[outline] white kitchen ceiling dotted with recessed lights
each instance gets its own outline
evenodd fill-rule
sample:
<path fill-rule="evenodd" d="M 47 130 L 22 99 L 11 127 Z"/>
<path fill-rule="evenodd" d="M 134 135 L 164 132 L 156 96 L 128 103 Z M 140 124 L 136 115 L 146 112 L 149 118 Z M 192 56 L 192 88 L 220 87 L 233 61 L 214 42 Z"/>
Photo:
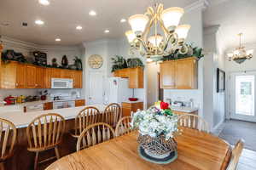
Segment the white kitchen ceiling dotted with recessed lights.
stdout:
<path fill-rule="evenodd" d="M 143 14 L 153 4 L 153 0 L 49 0 L 43 6 L 38 0 L 0 0 L 0 34 L 26 42 L 41 45 L 76 45 L 84 41 L 100 38 L 124 37 L 128 23 L 120 23 L 132 14 Z M 185 7 L 198 0 L 156 0 L 165 7 Z M 242 0 L 243 1 L 243 0 Z M 90 10 L 97 15 L 89 16 Z M 34 24 L 44 20 L 44 26 Z M 22 27 L 21 22 L 27 22 Z M 76 26 L 83 26 L 77 31 Z M 108 34 L 104 30 L 108 29 Z M 60 37 L 61 42 L 55 42 Z"/>

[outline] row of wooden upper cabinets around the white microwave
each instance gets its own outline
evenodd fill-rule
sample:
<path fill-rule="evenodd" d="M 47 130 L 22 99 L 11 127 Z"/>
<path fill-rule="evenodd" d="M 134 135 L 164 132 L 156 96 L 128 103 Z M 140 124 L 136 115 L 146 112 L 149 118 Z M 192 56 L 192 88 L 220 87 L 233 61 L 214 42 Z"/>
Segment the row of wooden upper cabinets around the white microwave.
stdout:
<path fill-rule="evenodd" d="M 0 88 L 51 88 L 51 78 L 72 78 L 73 88 L 83 88 L 83 72 L 44 68 L 9 61 L 1 65 Z"/>

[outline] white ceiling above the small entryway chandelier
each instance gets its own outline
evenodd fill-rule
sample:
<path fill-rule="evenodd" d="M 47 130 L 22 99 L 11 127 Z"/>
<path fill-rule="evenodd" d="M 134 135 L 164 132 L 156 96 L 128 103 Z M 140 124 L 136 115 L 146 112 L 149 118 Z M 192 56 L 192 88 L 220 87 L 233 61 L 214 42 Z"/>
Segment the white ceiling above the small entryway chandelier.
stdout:
<path fill-rule="evenodd" d="M 218 2 L 217 2 L 218 1 Z M 239 32 L 242 42 L 256 43 L 256 0 L 211 0 L 203 14 L 204 26 L 220 25 L 224 48 L 235 48 Z M 211 3 L 212 2 L 212 3 Z"/>

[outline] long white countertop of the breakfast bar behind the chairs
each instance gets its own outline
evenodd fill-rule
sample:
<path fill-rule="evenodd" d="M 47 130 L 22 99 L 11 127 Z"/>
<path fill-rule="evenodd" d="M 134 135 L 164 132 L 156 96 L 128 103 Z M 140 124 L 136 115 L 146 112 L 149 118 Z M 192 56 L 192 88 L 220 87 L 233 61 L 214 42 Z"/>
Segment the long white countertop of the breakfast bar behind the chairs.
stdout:
<path fill-rule="evenodd" d="M 90 105 L 86 105 L 90 106 Z M 105 107 L 107 105 L 93 105 L 95 106 L 99 111 L 104 111 Z M 40 116 L 42 114 L 46 113 L 57 113 L 63 116 L 66 120 L 75 118 L 79 111 L 84 109 L 84 106 L 79 107 L 71 107 L 71 108 L 64 108 L 64 109 L 55 109 L 50 111 L 28 111 L 24 113 L 23 111 L 1 111 L 0 112 L 0 118 L 7 119 L 10 122 L 13 122 L 15 124 L 15 127 L 22 128 L 27 127 L 30 122 L 37 116 Z"/>

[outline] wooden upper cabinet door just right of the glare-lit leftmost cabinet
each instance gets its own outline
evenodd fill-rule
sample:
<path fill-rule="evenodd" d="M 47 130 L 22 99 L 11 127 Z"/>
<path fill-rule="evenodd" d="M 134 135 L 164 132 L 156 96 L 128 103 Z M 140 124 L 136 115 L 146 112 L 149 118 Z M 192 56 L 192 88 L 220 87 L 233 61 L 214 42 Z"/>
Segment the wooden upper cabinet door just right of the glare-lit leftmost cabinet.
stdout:
<path fill-rule="evenodd" d="M 26 65 L 16 66 L 16 88 L 26 88 Z"/>

